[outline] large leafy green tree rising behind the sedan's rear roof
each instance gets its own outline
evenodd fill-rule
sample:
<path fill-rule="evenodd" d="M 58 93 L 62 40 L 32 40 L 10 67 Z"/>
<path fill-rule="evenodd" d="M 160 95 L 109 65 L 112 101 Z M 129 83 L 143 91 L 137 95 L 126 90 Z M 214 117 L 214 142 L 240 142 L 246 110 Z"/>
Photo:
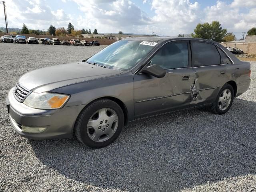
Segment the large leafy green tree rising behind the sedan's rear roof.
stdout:
<path fill-rule="evenodd" d="M 195 34 L 191 34 L 194 38 L 210 39 L 220 42 L 226 35 L 227 30 L 222 29 L 220 22 L 213 21 L 211 24 L 207 22 L 204 24 L 199 23 L 194 29 L 194 32 Z"/>

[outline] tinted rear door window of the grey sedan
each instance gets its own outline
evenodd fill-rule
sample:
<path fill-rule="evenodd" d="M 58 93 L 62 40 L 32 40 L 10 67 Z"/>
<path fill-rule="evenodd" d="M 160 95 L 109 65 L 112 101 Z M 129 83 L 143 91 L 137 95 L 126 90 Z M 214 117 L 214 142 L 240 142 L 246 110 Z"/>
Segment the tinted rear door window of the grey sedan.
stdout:
<path fill-rule="evenodd" d="M 221 64 L 220 54 L 213 44 L 192 42 L 192 65 L 194 67 Z"/>

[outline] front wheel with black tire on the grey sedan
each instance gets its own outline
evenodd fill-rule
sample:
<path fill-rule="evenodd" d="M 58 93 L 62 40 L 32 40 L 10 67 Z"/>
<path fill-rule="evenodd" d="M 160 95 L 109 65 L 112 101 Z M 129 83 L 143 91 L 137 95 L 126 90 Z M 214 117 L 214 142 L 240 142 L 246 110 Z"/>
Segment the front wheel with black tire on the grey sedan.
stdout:
<path fill-rule="evenodd" d="M 120 106 L 112 100 L 100 99 L 84 108 L 74 131 L 84 145 L 102 148 L 118 138 L 123 126 L 124 114 Z"/>

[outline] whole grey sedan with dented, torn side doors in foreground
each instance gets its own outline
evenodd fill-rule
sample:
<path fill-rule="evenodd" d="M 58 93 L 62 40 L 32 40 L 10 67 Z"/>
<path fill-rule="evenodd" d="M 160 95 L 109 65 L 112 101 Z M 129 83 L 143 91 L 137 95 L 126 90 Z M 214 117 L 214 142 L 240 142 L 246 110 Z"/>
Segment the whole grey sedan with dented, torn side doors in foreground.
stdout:
<path fill-rule="evenodd" d="M 228 112 L 248 90 L 250 73 L 250 63 L 211 40 L 130 38 L 81 62 L 22 75 L 6 104 L 24 137 L 75 134 L 83 144 L 101 148 L 124 125 L 145 118 L 204 106 L 214 114 Z"/>

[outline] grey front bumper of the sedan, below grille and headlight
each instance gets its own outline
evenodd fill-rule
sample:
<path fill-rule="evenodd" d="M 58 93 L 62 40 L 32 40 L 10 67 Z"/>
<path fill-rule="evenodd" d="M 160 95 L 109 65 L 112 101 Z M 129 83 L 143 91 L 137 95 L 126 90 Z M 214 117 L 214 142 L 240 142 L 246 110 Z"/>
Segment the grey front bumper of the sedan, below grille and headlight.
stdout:
<path fill-rule="evenodd" d="M 56 110 L 34 109 L 18 102 L 14 98 L 13 91 L 14 88 L 9 91 L 6 102 L 9 103 L 10 121 L 18 134 L 36 140 L 73 136 L 76 118 L 85 105 L 63 107 Z M 40 133 L 28 133 L 22 130 L 22 126 L 46 127 L 46 130 Z"/>

